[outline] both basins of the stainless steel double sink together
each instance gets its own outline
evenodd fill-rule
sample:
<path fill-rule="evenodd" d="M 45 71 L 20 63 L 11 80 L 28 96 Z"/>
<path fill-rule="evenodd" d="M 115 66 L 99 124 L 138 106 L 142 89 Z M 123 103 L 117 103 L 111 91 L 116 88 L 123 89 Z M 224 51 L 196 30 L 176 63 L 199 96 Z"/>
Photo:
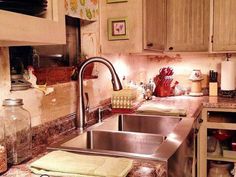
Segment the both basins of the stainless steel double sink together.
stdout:
<path fill-rule="evenodd" d="M 57 147 L 86 154 L 151 157 L 179 122 L 179 117 L 116 115 Z"/>

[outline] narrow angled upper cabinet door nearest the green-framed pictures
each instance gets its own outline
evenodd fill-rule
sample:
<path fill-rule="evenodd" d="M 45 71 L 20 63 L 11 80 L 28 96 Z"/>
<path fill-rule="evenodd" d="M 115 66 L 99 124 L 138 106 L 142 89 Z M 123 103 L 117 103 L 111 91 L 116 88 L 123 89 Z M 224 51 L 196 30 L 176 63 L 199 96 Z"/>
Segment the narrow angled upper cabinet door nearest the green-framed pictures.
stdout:
<path fill-rule="evenodd" d="M 144 0 L 144 49 L 164 50 L 166 0 Z"/>

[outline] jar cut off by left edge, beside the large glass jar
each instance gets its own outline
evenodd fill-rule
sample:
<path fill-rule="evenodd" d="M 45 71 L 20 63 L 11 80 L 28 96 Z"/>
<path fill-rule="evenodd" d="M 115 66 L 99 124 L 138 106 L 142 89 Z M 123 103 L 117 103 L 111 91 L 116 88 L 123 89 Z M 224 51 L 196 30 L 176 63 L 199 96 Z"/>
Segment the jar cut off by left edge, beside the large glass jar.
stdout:
<path fill-rule="evenodd" d="M 4 122 L 0 117 L 0 175 L 7 171 L 7 151 L 5 144 Z"/>

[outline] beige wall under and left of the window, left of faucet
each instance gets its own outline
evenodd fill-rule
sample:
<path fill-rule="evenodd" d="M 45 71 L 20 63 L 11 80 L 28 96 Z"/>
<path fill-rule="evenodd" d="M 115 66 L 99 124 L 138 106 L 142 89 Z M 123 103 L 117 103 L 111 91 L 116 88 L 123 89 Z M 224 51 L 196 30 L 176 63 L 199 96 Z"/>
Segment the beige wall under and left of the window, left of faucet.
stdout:
<path fill-rule="evenodd" d="M 0 105 L 6 98 L 22 98 L 32 117 L 32 126 L 67 116 L 76 111 L 76 82 L 52 85 L 54 92 L 44 95 L 37 89 L 10 92 L 10 63 L 7 48 L 0 48 Z M 1 106 L 0 106 L 1 110 Z"/>

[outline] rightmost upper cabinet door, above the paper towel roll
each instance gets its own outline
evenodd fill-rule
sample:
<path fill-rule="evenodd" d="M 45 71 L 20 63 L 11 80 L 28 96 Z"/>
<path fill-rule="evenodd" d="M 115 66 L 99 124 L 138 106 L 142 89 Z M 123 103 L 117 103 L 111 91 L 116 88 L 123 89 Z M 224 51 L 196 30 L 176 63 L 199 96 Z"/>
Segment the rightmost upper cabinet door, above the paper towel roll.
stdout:
<path fill-rule="evenodd" d="M 236 1 L 213 1 L 213 51 L 236 51 Z"/>

